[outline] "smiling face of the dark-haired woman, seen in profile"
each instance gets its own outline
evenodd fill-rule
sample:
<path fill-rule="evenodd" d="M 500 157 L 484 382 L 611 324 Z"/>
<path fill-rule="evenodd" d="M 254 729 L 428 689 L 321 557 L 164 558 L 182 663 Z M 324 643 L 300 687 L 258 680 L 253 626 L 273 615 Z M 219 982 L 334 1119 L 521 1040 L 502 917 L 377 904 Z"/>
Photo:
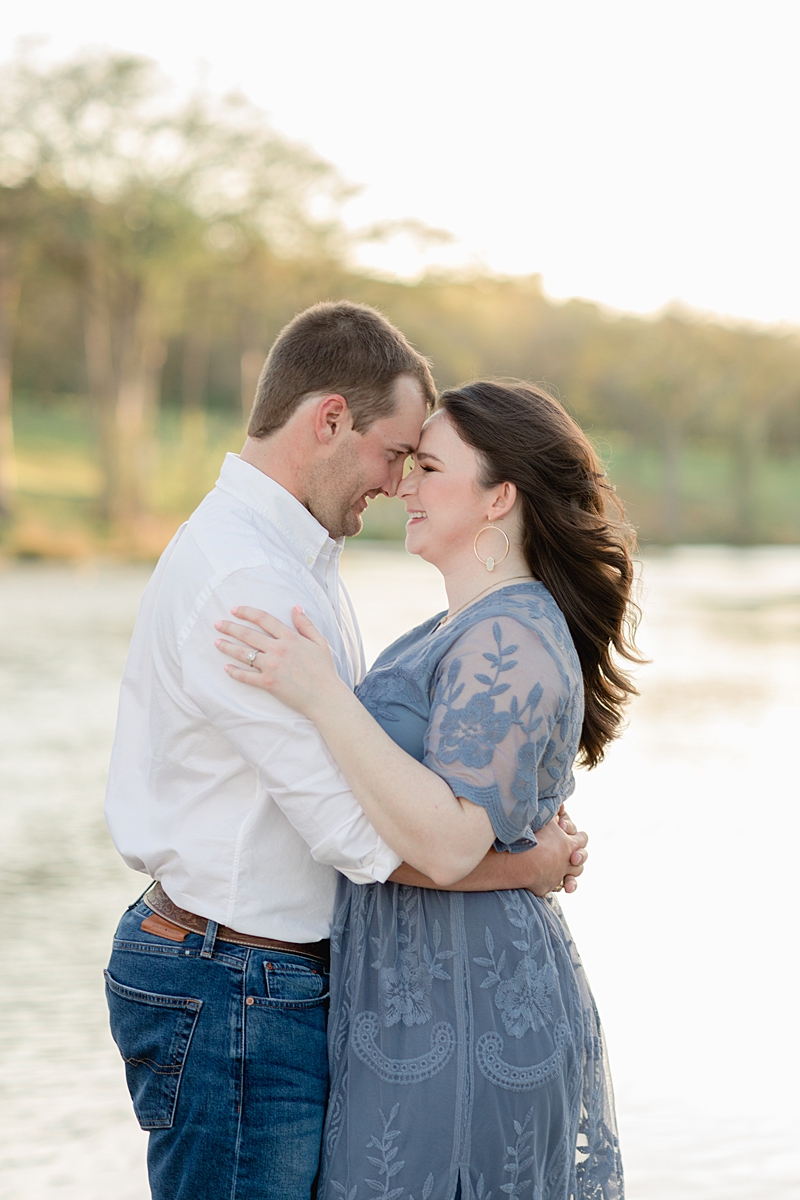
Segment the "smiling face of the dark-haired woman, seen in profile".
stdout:
<path fill-rule="evenodd" d="M 444 412 L 425 424 L 414 469 L 397 488 L 409 520 L 405 548 L 447 571 L 471 557 L 493 493 L 479 485 L 480 461 Z"/>

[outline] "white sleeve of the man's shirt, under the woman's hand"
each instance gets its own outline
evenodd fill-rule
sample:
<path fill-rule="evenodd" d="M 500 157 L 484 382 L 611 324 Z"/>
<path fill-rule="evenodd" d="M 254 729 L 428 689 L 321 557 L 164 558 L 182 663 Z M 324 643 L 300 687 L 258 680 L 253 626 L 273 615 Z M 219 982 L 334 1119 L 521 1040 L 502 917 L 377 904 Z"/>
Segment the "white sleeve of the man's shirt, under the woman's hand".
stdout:
<path fill-rule="evenodd" d="M 369 824 L 317 726 L 267 692 L 231 679 L 215 646 L 215 622 L 230 620 L 235 605 L 264 608 L 290 625 L 291 607 L 300 601 L 337 658 L 341 637 L 332 612 L 308 590 L 258 568 L 236 571 L 210 589 L 178 638 L 184 690 L 255 772 L 318 863 L 354 883 L 384 883 L 402 859 Z M 341 661 L 337 666 L 343 673 Z"/>

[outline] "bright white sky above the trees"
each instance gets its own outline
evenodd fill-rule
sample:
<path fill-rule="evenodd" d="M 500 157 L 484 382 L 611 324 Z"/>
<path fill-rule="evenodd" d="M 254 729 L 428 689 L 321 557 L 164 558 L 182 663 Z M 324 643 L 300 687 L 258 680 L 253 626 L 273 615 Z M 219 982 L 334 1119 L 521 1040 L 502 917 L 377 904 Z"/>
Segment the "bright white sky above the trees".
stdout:
<path fill-rule="evenodd" d="M 800 323 L 796 0 L 26 0 L 0 56 L 28 34 L 240 88 L 363 185 L 351 222 L 456 234 L 438 262 Z"/>

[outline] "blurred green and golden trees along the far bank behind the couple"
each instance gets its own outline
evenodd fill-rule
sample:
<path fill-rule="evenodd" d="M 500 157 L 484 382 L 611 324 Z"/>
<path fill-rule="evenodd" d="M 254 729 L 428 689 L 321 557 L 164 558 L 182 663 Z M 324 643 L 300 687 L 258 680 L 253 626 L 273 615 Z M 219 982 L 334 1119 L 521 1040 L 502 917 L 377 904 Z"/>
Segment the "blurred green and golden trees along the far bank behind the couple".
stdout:
<path fill-rule="evenodd" d="M 306 305 L 348 296 L 395 320 L 441 386 L 545 380 L 599 440 L 645 538 L 800 540 L 796 332 L 680 311 L 615 317 L 549 301 L 537 277 L 375 278 L 351 265 L 349 194 L 242 97 L 170 104 L 146 60 L 42 67 L 23 53 L 2 68 L 6 534 L 25 508 L 14 431 L 30 458 L 66 413 L 86 430 L 96 532 L 134 528 L 158 506 L 158 473 L 179 463 L 173 506 L 191 508 L 213 480 L 212 432 L 237 448 L 276 332 Z"/>

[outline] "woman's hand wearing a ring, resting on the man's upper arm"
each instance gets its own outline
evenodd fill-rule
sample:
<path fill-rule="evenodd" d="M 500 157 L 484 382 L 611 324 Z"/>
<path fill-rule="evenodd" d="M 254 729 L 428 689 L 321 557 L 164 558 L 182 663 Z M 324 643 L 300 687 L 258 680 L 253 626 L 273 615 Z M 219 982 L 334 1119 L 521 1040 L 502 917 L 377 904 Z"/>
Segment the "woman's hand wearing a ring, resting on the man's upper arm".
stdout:
<path fill-rule="evenodd" d="M 347 688 L 337 674 L 330 646 L 300 605 L 291 610 L 295 629 L 260 608 L 243 606 L 231 612 L 234 617 L 251 622 L 249 625 L 237 625 L 233 620 L 216 623 L 219 632 L 235 638 L 218 638 L 215 643 L 217 649 L 242 664 L 225 662 L 225 671 L 231 678 L 269 691 L 289 708 L 312 719 L 315 704 Z"/>

